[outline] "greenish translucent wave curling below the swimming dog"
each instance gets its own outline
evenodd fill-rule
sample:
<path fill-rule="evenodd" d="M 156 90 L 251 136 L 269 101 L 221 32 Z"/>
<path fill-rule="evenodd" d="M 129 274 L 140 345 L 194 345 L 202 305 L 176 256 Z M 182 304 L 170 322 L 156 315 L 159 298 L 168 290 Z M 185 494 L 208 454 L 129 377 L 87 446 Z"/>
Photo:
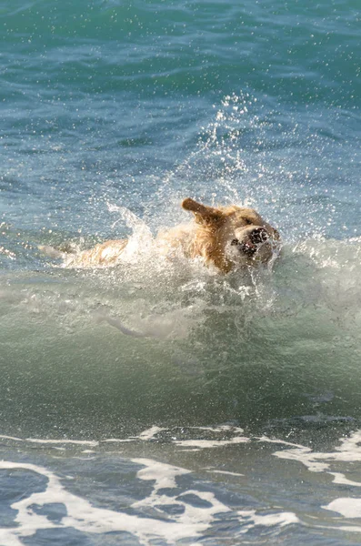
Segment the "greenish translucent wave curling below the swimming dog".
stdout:
<path fill-rule="evenodd" d="M 3 431 L 360 418 L 359 238 L 226 277 L 134 249 L 117 268 L 2 276 Z"/>

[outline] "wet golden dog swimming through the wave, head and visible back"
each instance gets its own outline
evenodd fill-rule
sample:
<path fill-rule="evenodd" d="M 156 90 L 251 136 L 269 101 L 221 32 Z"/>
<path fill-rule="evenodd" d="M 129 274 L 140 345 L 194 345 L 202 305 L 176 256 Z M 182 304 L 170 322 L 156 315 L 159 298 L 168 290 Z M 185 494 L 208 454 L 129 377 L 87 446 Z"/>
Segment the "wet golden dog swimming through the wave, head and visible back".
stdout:
<path fill-rule="evenodd" d="M 162 256 L 180 249 L 186 258 L 202 258 L 207 267 L 229 273 L 235 268 L 267 263 L 279 248 L 278 231 L 253 208 L 208 207 L 191 197 L 182 202 L 182 207 L 194 214 L 194 220 L 157 234 L 155 246 Z M 128 239 L 108 240 L 67 255 L 65 262 L 80 268 L 115 266 L 127 243 Z"/>

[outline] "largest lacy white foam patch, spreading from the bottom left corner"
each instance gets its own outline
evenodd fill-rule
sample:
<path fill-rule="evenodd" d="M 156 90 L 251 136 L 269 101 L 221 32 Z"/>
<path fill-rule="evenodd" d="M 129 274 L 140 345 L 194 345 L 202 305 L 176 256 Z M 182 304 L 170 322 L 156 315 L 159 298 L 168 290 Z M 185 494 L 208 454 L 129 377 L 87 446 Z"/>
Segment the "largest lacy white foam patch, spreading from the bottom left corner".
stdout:
<path fill-rule="evenodd" d="M 127 514 L 121 511 L 112 511 L 94 507 L 89 501 L 65 489 L 61 480 L 50 470 L 30 463 L 1 461 L 0 470 L 26 470 L 44 476 L 47 485 L 44 491 L 35 492 L 15 501 L 11 508 L 15 510 L 16 527 L 0 530 L 0 541 L 3 546 L 21 546 L 21 539 L 32 536 L 36 531 L 45 529 L 73 528 L 88 533 L 105 533 L 111 531 L 125 531 L 133 534 L 141 544 L 149 545 L 155 539 L 163 539 L 167 544 L 176 541 L 194 539 L 203 535 L 222 514 L 232 510 L 216 499 L 215 493 L 205 490 L 189 489 L 177 492 L 177 478 L 190 474 L 190 470 L 182 469 L 165 463 L 148 459 L 134 459 L 142 469 L 137 471 L 139 480 L 148 480 L 152 484 L 152 492 L 142 501 L 135 501 L 130 508 L 140 511 L 140 515 Z M 175 495 L 169 496 L 163 490 L 175 489 Z M 200 501 L 189 503 L 187 498 L 192 496 Z M 46 516 L 35 511 L 35 507 L 44 507 L 46 504 L 62 503 L 66 515 L 60 522 L 50 521 Z M 181 509 L 179 513 L 166 516 L 163 510 L 173 504 Z M 151 509 L 162 516 L 142 517 Z M 271 515 L 258 515 L 256 511 L 238 511 L 237 517 L 245 523 L 243 532 L 249 531 L 256 525 L 280 527 L 298 522 L 295 514 L 277 512 Z"/>

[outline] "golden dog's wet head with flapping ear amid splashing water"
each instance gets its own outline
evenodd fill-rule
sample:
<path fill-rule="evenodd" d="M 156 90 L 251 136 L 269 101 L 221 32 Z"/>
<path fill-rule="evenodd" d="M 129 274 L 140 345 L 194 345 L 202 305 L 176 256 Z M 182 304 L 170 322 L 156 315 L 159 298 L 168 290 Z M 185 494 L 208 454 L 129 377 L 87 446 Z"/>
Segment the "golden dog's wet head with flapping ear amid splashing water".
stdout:
<path fill-rule="evenodd" d="M 235 267 L 266 263 L 274 255 L 279 234 L 253 208 L 207 207 L 186 198 L 182 207 L 194 213 L 198 229 L 194 256 L 202 256 L 227 273 Z"/>

